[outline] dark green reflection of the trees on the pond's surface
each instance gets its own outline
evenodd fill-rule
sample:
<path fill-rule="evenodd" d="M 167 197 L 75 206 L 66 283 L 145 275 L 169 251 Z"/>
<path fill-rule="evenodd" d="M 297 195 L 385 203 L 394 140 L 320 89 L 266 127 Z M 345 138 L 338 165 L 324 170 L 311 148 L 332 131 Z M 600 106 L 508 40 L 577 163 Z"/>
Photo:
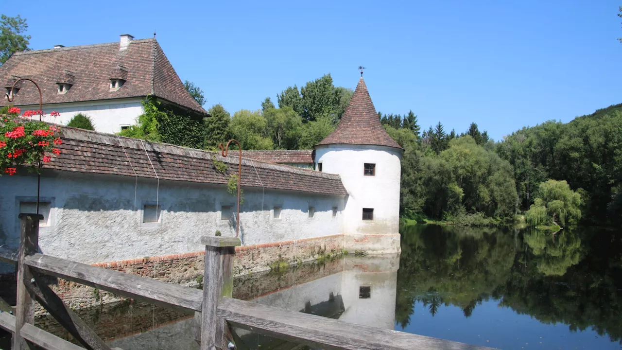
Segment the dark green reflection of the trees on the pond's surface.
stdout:
<path fill-rule="evenodd" d="M 471 316 L 482 301 L 542 323 L 593 327 L 622 339 L 622 235 L 603 230 L 503 232 L 415 225 L 402 230 L 396 320 L 414 304 L 432 315 L 453 305 Z"/>

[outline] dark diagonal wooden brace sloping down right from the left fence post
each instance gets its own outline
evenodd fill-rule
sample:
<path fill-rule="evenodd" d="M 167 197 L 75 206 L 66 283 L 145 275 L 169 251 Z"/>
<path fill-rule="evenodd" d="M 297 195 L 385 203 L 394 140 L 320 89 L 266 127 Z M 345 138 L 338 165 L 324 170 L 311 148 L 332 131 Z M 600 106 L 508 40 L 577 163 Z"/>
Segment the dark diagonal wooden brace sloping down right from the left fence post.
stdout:
<path fill-rule="evenodd" d="M 72 334 L 78 343 L 88 350 L 110 350 L 97 334 L 76 315 L 62 300 L 45 284 L 39 273 L 32 272 L 35 283 L 24 281 L 26 289 L 35 300 L 47 310 L 63 328 Z"/>

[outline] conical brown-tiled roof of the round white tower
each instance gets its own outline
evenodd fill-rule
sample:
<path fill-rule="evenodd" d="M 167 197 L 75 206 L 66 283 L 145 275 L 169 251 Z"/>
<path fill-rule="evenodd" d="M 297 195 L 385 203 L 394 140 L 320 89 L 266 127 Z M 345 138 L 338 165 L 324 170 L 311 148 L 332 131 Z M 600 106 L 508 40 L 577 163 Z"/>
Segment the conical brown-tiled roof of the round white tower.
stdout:
<path fill-rule="evenodd" d="M 363 77 L 337 128 L 316 146 L 320 144 L 370 144 L 404 149 L 384 131 Z"/>

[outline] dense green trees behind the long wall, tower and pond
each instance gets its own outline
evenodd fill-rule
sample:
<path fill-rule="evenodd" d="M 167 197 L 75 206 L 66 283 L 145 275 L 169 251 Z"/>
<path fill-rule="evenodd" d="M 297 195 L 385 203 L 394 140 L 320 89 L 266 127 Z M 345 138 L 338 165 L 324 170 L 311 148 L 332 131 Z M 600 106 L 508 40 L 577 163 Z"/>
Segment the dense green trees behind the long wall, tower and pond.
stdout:
<path fill-rule="evenodd" d="M 285 88 L 277 105 L 267 97 L 261 109 L 233 115 L 213 105 L 203 120 L 181 118 L 151 100 L 121 135 L 211 150 L 230 138 L 244 149 L 310 149 L 335 129 L 352 94 L 328 74 Z M 422 130 L 412 110 L 378 118 L 406 149 L 404 217 L 492 225 L 526 214 L 530 225 L 622 225 L 622 105 L 570 123 L 545 121 L 498 142 L 476 123 L 461 133 L 440 122 Z"/>

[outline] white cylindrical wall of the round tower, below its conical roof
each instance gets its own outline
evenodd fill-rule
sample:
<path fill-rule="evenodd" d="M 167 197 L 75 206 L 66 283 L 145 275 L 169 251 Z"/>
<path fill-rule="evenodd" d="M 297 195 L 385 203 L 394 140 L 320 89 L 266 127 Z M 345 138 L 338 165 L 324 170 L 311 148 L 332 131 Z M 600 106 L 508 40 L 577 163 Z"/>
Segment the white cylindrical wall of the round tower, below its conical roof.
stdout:
<path fill-rule="evenodd" d="M 399 149 L 367 145 L 323 145 L 315 148 L 316 162 L 324 173 L 339 174 L 348 197 L 345 234 L 399 233 Z M 363 164 L 376 164 L 375 176 L 363 175 Z M 363 220 L 363 208 L 374 209 L 373 220 Z"/>

